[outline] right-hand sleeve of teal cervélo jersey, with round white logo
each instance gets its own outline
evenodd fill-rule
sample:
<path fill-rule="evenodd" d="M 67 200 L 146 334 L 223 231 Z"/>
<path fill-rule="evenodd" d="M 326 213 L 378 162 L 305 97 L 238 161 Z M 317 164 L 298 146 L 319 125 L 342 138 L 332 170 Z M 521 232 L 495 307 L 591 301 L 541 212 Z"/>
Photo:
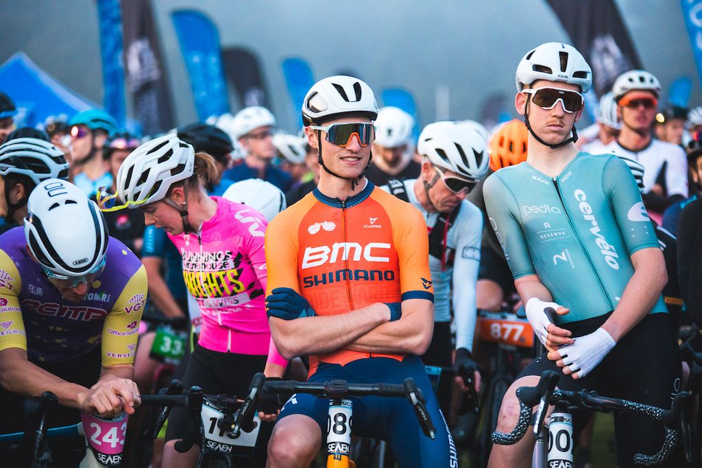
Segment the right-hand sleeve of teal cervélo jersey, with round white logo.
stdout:
<path fill-rule="evenodd" d="M 642 248 L 660 248 L 639 187 L 626 163 L 616 157 L 609 158 L 602 178 L 629 255 Z"/>

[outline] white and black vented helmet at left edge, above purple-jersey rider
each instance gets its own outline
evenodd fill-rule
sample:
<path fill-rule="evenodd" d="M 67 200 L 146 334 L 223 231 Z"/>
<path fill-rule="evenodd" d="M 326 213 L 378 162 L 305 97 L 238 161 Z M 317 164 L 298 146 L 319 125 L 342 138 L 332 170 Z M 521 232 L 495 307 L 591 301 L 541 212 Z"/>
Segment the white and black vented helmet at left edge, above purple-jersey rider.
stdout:
<path fill-rule="evenodd" d="M 39 185 L 46 179 L 67 179 L 63 152 L 46 140 L 15 138 L 0 146 L 0 175 L 26 175 Z"/>

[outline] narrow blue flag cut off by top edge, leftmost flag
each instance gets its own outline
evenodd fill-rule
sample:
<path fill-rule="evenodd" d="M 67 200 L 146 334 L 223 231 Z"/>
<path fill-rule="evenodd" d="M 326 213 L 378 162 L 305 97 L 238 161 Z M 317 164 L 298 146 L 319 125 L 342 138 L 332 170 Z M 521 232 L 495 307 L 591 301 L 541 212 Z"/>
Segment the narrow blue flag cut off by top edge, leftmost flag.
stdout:
<path fill-rule="evenodd" d="M 124 127 L 124 64 L 122 62 L 122 20 L 119 0 L 98 0 L 100 54 L 102 55 L 102 105 Z"/>

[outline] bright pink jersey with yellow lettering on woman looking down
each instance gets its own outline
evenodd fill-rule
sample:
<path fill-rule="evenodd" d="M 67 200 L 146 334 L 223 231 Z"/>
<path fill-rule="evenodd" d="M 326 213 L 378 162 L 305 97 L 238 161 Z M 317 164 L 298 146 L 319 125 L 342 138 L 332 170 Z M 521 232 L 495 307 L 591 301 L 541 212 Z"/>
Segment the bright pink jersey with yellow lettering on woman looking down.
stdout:
<path fill-rule="evenodd" d="M 202 312 L 199 345 L 216 352 L 269 354 L 278 361 L 263 302 L 267 222 L 249 206 L 211 198 L 217 211 L 199 234 L 168 234 L 183 258 L 185 286 Z"/>

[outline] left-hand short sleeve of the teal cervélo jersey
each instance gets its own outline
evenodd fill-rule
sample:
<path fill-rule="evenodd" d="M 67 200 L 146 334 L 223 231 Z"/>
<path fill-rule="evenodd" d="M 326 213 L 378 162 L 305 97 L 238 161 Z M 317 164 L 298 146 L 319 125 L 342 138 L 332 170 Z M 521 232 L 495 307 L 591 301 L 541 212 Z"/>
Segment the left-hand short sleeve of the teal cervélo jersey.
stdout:
<path fill-rule="evenodd" d="M 483 185 L 488 222 L 495 230 L 505 259 L 515 279 L 536 274 L 529 255 L 529 244 L 519 219 L 517 199 L 498 173 L 491 175 Z"/>

